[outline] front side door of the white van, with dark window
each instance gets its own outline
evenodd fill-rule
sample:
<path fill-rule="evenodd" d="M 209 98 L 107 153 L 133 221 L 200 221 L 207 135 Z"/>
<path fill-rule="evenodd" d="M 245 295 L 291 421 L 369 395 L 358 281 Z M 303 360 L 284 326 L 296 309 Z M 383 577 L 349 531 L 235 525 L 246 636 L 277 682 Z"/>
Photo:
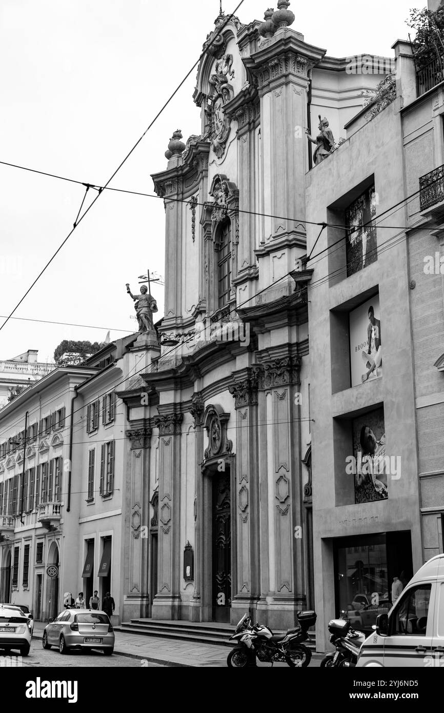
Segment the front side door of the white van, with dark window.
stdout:
<path fill-rule="evenodd" d="M 435 583 L 423 583 L 401 594 L 384 637 L 384 666 L 430 665 L 435 591 Z"/>

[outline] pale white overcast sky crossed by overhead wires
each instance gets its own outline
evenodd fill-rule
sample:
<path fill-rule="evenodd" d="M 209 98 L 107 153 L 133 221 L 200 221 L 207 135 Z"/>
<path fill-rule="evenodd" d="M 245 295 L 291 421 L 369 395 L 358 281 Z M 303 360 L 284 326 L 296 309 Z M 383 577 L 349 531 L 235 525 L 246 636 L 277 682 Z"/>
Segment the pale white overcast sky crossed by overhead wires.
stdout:
<path fill-rule="evenodd" d="M 239 0 L 223 0 L 229 14 Z M 262 19 L 269 0 L 244 0 L 237 15 Z M 424 0 L 293 1 L 293 29 L 331 56 L 393 56 L 411 7 Z M 274 6 L 277 6 L 275 0 Z M 1 0 L 0 160 L 104 185 L 214 28 L 219 0 Z M 192 101 L 196 71 L 111 185 L 154 193 L 172 132 L 200 133 Z M 0 314 L 7 315 L 68 234 L 82 186 L 0 165 Z M 89 196 L 85 207 L 89 205 Z M 14 317 L 93 325 L 62 327 L 11 319 L 0 360 L 27 349 L 52 359 L 62 339 L 102 341 L 135 330 L 125 282 L 165 274 L 162 201 L 103 192 Z M 153 287 L 161 317 L 163 288 Z M 4 319 L 0 319 L 0 324 Z"/>

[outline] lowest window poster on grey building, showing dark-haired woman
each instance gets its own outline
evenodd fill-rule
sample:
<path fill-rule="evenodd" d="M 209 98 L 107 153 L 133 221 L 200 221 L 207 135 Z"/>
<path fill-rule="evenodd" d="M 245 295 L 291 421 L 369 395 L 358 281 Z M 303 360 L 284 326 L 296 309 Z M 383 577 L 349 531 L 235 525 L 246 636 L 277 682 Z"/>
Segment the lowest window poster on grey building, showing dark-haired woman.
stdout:
<path fill-rule="evenodd" d="M 353 419 L 353 457 L 348 459 L 346 472 L 354 476 L 355 503 L 388 498 L 390 463 L 386 457 L 384 409 Z"/>

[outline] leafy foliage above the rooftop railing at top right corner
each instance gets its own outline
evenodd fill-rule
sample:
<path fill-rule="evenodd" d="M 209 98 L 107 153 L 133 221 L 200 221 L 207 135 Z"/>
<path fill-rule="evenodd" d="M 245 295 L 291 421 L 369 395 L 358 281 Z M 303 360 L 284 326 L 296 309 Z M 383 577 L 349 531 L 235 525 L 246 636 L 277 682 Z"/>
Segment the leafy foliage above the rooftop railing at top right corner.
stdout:
<path fill-rule="evenodd" d="M 415 30 L 413 53 L 417 69 L 422 69 L 433 60 L 438 60 L 441 68 L 444 64 L 444 8 L 435 12 L 423 8 L 410 11 L 406 20 Z"/>

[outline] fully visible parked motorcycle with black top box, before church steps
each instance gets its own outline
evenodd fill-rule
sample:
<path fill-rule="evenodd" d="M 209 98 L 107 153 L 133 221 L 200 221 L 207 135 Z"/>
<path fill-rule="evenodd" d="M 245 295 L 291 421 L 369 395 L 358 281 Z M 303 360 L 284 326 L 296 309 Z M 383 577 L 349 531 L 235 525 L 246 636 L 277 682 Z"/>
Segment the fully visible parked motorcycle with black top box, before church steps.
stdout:
<path fill-rule="evenodd" d="M 230 668 L 256 666 L 256 659 L 271 663 L 286 663 L 291 668 L 309 665 L 311 651 L 301 642 L 310 640 L 308 629 L 316 622 L 316 613 L 298 612 L 298 625 L 286 634 L 274 635 L 267 626 L 253 624 L 252 617 L 244 614 L 230 640 L 237 642 L 227 657 Z"/>

